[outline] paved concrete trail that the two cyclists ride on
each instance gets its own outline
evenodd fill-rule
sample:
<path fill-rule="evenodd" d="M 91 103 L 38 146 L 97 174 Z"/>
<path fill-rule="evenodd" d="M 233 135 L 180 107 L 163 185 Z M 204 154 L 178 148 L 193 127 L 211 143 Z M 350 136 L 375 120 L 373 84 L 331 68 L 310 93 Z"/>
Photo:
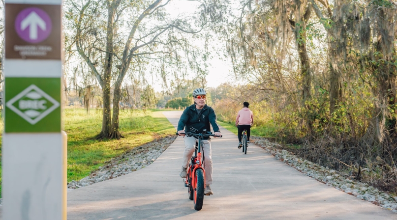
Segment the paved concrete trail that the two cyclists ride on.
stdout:
<path fill-rule="evenodd" d="M 164 114 L 176 126 L 182 111 Z M 144 169 L 67 193 L 68 220 L 287 219 L 392 220 L 397 214 L 340 192 L 221 129 L 212 139 L 214 195 L 195 211 L 179 177 L 183 138 Z"/>

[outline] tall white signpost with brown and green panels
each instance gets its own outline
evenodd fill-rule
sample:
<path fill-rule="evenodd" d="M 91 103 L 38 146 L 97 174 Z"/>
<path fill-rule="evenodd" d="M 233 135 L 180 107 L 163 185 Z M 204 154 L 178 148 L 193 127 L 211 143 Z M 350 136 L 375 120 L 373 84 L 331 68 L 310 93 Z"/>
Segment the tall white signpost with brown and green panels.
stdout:
<path fill-rule="evenodd" d="M 66 219 L 61 0 L 5 0 L 4 220 Z"/>

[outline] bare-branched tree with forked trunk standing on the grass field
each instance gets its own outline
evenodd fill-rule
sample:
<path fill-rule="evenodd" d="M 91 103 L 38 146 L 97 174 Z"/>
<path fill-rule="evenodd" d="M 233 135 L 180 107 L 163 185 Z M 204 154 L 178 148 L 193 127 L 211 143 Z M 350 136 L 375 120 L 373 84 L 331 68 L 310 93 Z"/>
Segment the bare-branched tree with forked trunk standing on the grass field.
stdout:
<path fill-rule="evenodd" d="M 97 138 L 122 138 L 119 132 L 120 102 L 129 102 L 128 88 L 122 84 L 143 82 L 144 108 L 156 104 L 154 92 L 147 87 L 146 74 L 158 74 L 165 91 L 167 77 L 193 73 L 201 79 L 207 74 L 208 48 L 190 43 L 208 41 L 201 31 L 208 23 L 222 20 L 224 8 L 217 1 L 190 2 L 196 13 L 171 16 L 165 6 L 170 0 L 67 0 L 65 15 L 65 60 L 78 59 L 85 78 L 95 79 L 102 89 L 102 128 Z M 76 53 L 77 52 L 77 53 Z M 76 55 L 74 55 L 76 54 Z M 73 65 L 72 62 L 69 63 Z M 88 70 L 88 71 L 87 71 Z M 177 80 L 178 81 L 178 80 Z M 202 83 L 204 84 L 204 83 Z M 136 87 L 133 89 L 136 98 Z M 113 93 L 113 98 L 111 94 Z M 125 95 L 126 94 L 126 95 Z M 138 96 L 139 97 L 139 96 Z M 134 105 L 136 99 L 133 100 Z M 113 115 L 111 105 L 113 103 Z"/>

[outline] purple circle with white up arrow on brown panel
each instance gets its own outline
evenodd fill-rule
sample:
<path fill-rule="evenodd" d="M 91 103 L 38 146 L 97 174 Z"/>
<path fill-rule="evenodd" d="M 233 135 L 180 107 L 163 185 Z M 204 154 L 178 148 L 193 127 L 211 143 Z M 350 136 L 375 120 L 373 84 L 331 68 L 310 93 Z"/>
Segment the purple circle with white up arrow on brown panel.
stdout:
<path fill-rule="evenodd" d="M 39 43 L 50 35 L 51 18 L 40 8 L 30 7 L 22 10 L 15 19 L 17 34 L 30 43 Z"/>

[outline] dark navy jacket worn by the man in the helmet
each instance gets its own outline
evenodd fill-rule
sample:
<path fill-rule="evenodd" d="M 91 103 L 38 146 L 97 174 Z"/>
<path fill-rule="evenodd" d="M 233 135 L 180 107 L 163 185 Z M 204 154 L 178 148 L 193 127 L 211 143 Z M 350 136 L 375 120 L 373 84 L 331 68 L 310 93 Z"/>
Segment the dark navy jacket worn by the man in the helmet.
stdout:
<path fill-rule="evenodd" d="M 199 114 L 196 105 L 193 104 L 183 111 L 178 122 L 178 131 L 182 131 L 184 128 L 185 132 L 193 132 L 191 128 L 194 128 L 197 129 L 197 134 L 202 133 L 204 129 L 207 129 L 209 132 L 211 131 L 210 123 L 213 126 L 214 132 L 218 132 L 219 127 L 216 124 L 214 109 L 204 105 L 203 110 Z"/>

